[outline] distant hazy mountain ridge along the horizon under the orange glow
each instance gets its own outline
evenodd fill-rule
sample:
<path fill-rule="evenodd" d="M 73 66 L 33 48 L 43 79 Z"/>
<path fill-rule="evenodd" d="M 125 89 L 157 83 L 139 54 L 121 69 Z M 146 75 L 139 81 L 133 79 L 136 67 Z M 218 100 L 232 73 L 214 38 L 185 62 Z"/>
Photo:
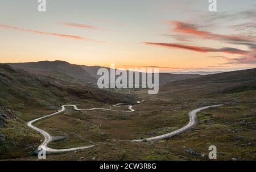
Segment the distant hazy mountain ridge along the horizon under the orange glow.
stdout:
<path fill-rule="evenodd" d="M 69 77 L 75 78 L 78 81 L 84 83 L 97 83 L 97 79 L 100 75 L 97 75 L 97 71 L 102 66 L 86 66 L 70 64 L 66 61 L 39 61 L 39 62 L 22 62 L 22 63 L 7 63 L 15 69 L 23 69 L 32 74 L 51 74 L 63 73 Z M 107 68 L 110 72 L 110 68 Z M 138 73 L 138 72 L 134 72 Z M 141 76 L 141 73 L 140 73 Z M 181 79 L 197 78 L 199 74 L 172 74 L 172 73 L 159 73 L 159 85 L 166 82 L 179 81 Z M 115 76 L 117 78 L 118 75 Z M 143 80 L 140 79 L 140 82 Z"/>

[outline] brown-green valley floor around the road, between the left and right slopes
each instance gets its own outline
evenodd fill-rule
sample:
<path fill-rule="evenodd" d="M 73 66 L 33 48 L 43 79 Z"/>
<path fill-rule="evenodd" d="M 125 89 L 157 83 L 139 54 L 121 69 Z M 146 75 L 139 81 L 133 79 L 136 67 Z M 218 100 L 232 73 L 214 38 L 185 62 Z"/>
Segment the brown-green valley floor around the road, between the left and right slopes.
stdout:
<path fill-rule="evenodd" d="M 127 94 L 125 90 L 118 90 Z M 47 155 L 47 160 L 209 160 L 209 146 L 217 147 L 217 160 L 255 160 L 256 91 L 185 98 L 170 95 L 147 95 L 134 90 L 133 96 L 146 100 L 133 108 L 135 112 L 88 111 L 69 109 L 35 123 L 52 136 L 52 148 L 71 148 L 96 144 L 93 148 Z M 168 140 L 131 142 L 175 131 L 188 123 L 187 113 L 195 108 L 225 104 L 197 114 L 195 128 Z M 77 104 L 79 108 L 91 105 Z M 109 105 L 98 104 L 109 108 Z M 27 117 L 26 117 L 27 118 Z M 36 156 L 19 160 L 37 160 Z"/>

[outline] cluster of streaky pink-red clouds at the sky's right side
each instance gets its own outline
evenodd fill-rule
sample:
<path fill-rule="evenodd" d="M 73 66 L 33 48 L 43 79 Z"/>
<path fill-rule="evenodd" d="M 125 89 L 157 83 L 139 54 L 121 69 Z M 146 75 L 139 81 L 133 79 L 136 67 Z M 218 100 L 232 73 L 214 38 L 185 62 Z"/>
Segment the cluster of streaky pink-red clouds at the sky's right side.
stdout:
<path fill-rule="evenodd" d="M 184 45 L 175 43 L 143 43 L 147 45 L 157 45 L 168 48 L 178 48 L 185 49 L 188 51 L 195 51 L 201 53 L 208 52 L 220 52 L 228 54 L 240 55 L 238 58 L 228 58 L 223 57 L 222 60 L 227 61 L 225 64 L 255 64 L 256 63 L 256 37 L 248 35 L 221 35 L 212 33 L 209 31 L 200 30 L 195 24 L 184 23 L 179 21 L 168 20 L 167 23 L 174 26 L 171 29 L 171 33 L 164 34 L 170 36 L 178 41 L 193 43 L 191 39 L 203 39 L 203 40 L 216 40 L 224 41 L 229 44 L 245 45 L 249 50 L 242 50 L 232 47 L 222 47 L 222 48 L 208 48 L 208 47 L 197 47 L 194 45 Z M 216 57 L 216 56 L 215 56 Z M 220 56 L 218 56 L 220 57 Z"/>

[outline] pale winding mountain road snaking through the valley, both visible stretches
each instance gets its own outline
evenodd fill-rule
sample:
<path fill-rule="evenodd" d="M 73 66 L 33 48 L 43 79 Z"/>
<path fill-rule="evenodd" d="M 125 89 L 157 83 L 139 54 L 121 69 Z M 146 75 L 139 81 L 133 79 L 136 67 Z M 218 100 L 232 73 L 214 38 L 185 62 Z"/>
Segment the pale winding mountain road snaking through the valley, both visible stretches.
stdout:
<path fill-rule="evenodd" d="M 138 101 L 137 103 L 141 103 L 144 102 L 144 100 L 142 101 Z M 134 112 L 135 110 L 133 109 L 133 106 L 131 105 L 123 105 L 123 104 L 129 104 L 129 103 L 118 103 L 113 105 L 113 107 L 127 107 L 129 109 L 129 111 L 125 111 L 125 112 Z M 68 151 L 74 151 L 74 150 L 79 150 L 79 149 L 88 149 L 88 148 L 92 148 L 94 145 L 87 145 L 87 146 L 80 146 L 80 147 L 76 147 L 76 148 L 68 148 L 68 149 L 53 149 L 53 148 L 49 148 L 48 144 L 49 142 L 51 142 L 52 136 L 46 132 L 43 131 L 40 128 L 35 127 L 34 125 L 32 125 L 33 123 L 35 123 L 36 121 L 45 119 L 45 118 L 49 118 L 53 115 L 57 115 L 60 114 L 61 112 L 65 111 L 65 107 L 67 106 L 71 106 L 74 108 L 74 110 L 76 111 L 92 111 L 92 110 L 105 110 L 105 111 L 115 111 L 112 109 L 107 109 L 107 108 L 90 108 L 87 110 L 83 110 L 83 109 L 79 109 L 77 108 L 77 106 L 73 105 L 73 104 L 66 104 L 61 106 L 61 109 L 53 114 L 49 114 L 46 116 L 42 116 L 40 118 L 28 121 L 27 125 L 28 127 L 35 129 L 36 131 L 40 132 L 43 136 L 44 136 L 44 141 L 42 142 L 42 144 L 39 145 L 38 150 L 46 150 L 47 154 L 52 154 L 52 153 L 61 153 L 61 152 L 68 152 Z M 189 116 L 189 123 L 187 125 L 185 125 L 185 127 L 177 129 L 174 132 L 171 133 L 167 133 L 166 135 L 161 135 L 161 136 L 156 136 L 156 137 L 150 137 L 147 139 L 141 139 L 141 140 L 132 140 L 133 142 L 142 142 L 142 141 L 158 141 L 158 140 L 162 140 L 162 139 L 168 139 L 170 137 L 179 135 L 180 133 L 183 133 L 184 131 L 187 131 L 189 128 L 193 127 L 194 125 L 196 125 L 196 113 L 202 110 L 205 110 L 209 107 L 218 107 L 218 106 L 222 106 L 222 104 L 219 105 L 214 105 L 214 106 L 206 106 L 206 107 L 201 107 L 201 108 L 197 108 L 196 110 L 192 110 L 188 113 Z"/>

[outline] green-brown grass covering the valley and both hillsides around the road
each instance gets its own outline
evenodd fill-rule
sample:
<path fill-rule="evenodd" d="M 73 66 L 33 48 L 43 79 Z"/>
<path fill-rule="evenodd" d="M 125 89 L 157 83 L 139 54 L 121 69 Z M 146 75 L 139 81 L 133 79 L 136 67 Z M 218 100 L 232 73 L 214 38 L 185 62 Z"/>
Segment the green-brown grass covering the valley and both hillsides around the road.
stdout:
<path fill-rule="evenodd" d="M 14 75 L 15 79 L 19 77 L 19 74 Z M 171 83 L 161 87 L 158 95 L 148 95 L 144 89 L 113 90 L 115 93 L 109 93 L 79 86 L 76 91 L 77 83 L 67 86 L 61 81 L 63 87 L 42 86 L 25 76 L 24 83 L 18 79 L 17 87 L 3 87 L 0 103 L 6 103 L 20 119 L 28 121 L 59 110 L 61 104 L 77 104 L 79 108 L 108 108 L 117 102 L 146 100 L 135 105 L 136 111 L 132 113 L 123 112 L 124 108 L 117 108 L 116 112 L 77 112 L 69 109 L 65 111 L 66 114 L 64 112 L 38 121 L 35 125 L 52 136 L 67 136 L 64 140 L 51 142 L 49 146 L 52 148 L 96 144 L 86 150 L 48 155 L 47 160 L 79 160 L 80 157 L 85 157 L 83 160 L 208 160 L 210 145 L 217 146 L 217 160 L 255 160 L 256 90 L 220 93 L 219 89 L 235 85 L 234 82 L 240 81 L 243 76 L 231 78 L 230 81 L 226 81 L 225 77 L 220 78 L 220 75 L 213 77 L 213 80 L 208 77 L 203 77 L 201 81 L 196 79 L 200 81 L 198 83 L 192 82 L 194 79 Z M 250 77 L 245 76 L 241 81 Z M 36 85 L 28 86 L 30 79 Z M 92 94 L 88 94 L 88 90 Z M 123 96 L 128 95 L 128 91 L 131 91 L 133 98 Z M 175 131 L 188 123 L 189 111 L 213 104 L 225 106 L 199 112 L 198 125 L 179 136 L 155 143 L 129 141 Z M 27 130 L 26 126 L 15 123 L 10 121 L 9 127 L 1 131 L 10 138 L 5 144 L 9 146 L 8 150 L 1 145 L 1 158 L 36 160 L 31 153 L 42 136 L 30 129 L 28 135 L 23 136 L 24 132 L 19 130 Z M 26 150 L 27 145 L 32 147 Z M 189 154 L 185 151 L 189 148 L 206 156 Z"/>

